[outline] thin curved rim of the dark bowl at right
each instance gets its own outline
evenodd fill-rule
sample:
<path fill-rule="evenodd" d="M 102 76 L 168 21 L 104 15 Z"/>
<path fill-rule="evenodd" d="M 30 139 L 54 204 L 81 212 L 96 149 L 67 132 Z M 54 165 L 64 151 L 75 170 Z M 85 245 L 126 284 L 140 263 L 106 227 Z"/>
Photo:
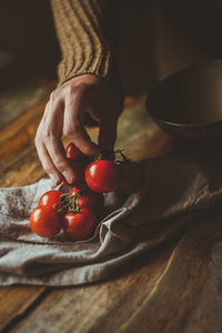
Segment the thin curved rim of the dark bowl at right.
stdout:
<path fill-rule="evenodd" d="M 152 87 L 148 93 L 148 98 L 147 98 L 147 101 L 145 101 L 145 105 L 151 114 L 151 117 L 160 122 L 160 123 L 164 123 L 164 124 L 168 124 L 168 125 L 174 125 L 174 127 L 188 127 L 188 128 L 201 128 L 201 127 L 208 127 L 208 125 L 215 125 L 215 124 L 220 124 L 222 123 L 222 119 L 220 121 L 213 121 L 213 122 L 202 122 L 202 123 L 178 123 L 178 122 L 171 122 L 171 121 L 167 121 L 167 120 L 162 120 L 160 118 L 158 118 L 157 115 L 154 115 L 151 111 L 152 108 L 149 108 L 149 99 L 150 99 L 150 95 L 152 95 L 152 92 L 154 90 L 157 90 L 157 88 L 159 88 L 161 84 L 164 84 L 165 81 L 168 80 L 171 80 L 172 78 L 176 78 L 178 75 L 180 74 L 183 74 L 183 73 L 186 73 L 186 72 L 192 72 L 192 71 L 195 71 L 198 69 L 201 69 L 201 68 L 208 68 L 208 67 L 214 67 L 214 65 L 218 65 L 218 64 L 222 64 L 222 59 L 220 60 L 211 60 L 211 61 L 203 61 L 203 62 L 199 62 L 192 67 L 189 67 L 189 68 L 185 68 L 183 70 L 180 70 L 173 74 L 170 74 L 169 77 L 164 78 L 164 79 L 161 79 L 154 87 Z"/>

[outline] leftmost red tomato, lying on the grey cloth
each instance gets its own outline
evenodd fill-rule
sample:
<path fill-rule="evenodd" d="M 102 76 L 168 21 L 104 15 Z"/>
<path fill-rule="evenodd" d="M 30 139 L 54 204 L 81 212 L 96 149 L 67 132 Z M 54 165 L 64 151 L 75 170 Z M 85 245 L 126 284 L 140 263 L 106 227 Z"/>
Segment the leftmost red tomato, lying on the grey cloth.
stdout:
<path fill-rule="evenodd" d="M 30 228 L 41 238 L 53 238 L 61 226 L 60 218 L 51 206 L 38 206 L 30 215 Z"/>

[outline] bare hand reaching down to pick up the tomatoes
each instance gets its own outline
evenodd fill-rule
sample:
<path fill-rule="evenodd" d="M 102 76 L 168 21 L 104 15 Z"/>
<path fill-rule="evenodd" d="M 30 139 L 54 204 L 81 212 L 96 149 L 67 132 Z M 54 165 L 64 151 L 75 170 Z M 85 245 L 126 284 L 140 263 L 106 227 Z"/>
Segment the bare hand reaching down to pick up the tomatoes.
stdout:
<path fill-rule="evenodd" d="M 56 89 L 48 101 L 36 135 L 36 147 L 44 171 L 56 184 L 64 179 L 72 184 L 74 171 L 65 159 L 61 141 L 68 137 L 84 154 L 97 155 L 100 150 L 113 150 L 121 99 L 103 79 L 92 74 L 77 77 Z M 83 115 L 100 124 L 99 147 L 90 140 Z"/>

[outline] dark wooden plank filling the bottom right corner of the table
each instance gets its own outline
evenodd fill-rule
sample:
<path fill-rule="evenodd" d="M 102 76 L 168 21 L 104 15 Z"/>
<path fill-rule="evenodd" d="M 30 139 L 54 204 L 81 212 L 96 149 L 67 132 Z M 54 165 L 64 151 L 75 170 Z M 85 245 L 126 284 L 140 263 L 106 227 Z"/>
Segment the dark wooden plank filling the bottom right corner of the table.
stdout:
<path fill-rule="evenodd" d="M 221 332 L 221 266 L 212 256 L 222 245 L 220 215 L 212 210 L 183 234 L 155 287 L 118 333 Z"/>

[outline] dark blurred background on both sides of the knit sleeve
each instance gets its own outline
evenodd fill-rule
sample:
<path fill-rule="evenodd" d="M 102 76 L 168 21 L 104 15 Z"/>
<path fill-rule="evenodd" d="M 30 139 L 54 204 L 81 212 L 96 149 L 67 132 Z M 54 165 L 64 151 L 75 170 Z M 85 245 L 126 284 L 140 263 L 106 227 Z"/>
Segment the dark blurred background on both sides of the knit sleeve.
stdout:
<path fill-rule="evenodd" d="M 162 77 L 222 58 L 221 3 L 123 1 L 119 63 L 125 92 L 141 94 Z M 0 1 L 0 85 L 30 78 L 57 80 L 60 59 L 49 1 Z"/>

